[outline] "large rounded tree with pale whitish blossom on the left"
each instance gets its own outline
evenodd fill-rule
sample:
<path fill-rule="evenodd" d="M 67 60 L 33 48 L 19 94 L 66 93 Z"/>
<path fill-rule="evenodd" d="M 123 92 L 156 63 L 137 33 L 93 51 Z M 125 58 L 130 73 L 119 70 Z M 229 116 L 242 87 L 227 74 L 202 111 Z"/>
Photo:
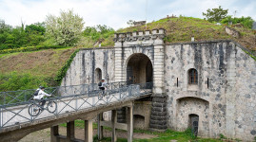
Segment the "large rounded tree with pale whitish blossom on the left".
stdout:
<path fill-rule="evenodd" d="M 60 16 L 49 14 L 46 20 L 46 35 L 59 45 L 75 45 L 82 36 L 83 18 L 74 14 L 73 10 L 60 11 Z"/>

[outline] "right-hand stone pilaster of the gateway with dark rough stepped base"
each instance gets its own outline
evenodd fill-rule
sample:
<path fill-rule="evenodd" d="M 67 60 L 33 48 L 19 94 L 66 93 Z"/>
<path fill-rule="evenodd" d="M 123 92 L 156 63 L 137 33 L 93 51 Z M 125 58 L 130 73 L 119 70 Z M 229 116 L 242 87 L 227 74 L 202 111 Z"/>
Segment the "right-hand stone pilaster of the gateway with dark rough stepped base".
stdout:
<path fill-rule="evenodd" d="M 165 45 L 163 37 L 157 37 L 154 41 L 154 62 L 153 62 L 153 95 L 152 109 L 150 115 L 150 130 L 167 130 L 167 96 L 164 86 L 164 62 Z"/>

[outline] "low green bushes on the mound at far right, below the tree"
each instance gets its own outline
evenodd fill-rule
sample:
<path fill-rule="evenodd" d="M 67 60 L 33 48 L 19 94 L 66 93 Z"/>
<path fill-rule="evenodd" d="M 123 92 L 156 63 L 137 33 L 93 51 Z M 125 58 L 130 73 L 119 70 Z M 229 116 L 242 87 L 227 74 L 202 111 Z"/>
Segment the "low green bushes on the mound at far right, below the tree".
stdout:
<path fill-rule="evenodd" d="M 253 24 L 253 19 L 251 17 L 244 17 L 242 16 L 241 18 L 232 18 L 232 16 L 227 16 L 226 18 L 224 18 L 221 23 L 222 24 L 228 24 L 232 22 L 232 24 L 242 24 L 244 27 L 246 28 L 251 28 L 252 27 L 252 24 Z"/>

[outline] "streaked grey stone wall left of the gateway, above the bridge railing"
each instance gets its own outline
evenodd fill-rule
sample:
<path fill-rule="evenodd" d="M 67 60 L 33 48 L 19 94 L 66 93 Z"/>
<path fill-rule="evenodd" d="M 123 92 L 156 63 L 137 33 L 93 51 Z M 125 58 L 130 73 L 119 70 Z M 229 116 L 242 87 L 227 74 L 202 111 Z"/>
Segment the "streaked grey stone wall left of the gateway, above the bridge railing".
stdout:
<path fill-rule="evenodd" d="M 96 80 L 97 68 L 102 71 L 102 78 L 114 81 L 114 50 L 113 48 L 81 49 L 71 63 L 62 86 L 98 83 Z"/>

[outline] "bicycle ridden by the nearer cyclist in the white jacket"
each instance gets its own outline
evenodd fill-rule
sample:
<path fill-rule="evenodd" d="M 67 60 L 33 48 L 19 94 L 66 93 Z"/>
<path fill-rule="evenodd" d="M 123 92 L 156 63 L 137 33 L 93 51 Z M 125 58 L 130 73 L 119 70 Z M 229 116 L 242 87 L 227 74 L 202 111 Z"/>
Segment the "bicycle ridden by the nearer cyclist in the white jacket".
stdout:
<path fill-rule="evenodd" d="M 29 114 L 31 116 L 36 116 L 42 113 L 44 110 L 47 110 L 49 113 L 54 113 L 57 109 L 57 103 L 54 100 L 48 100 L 47 107 L 41 106 L 40 103 L 42 103 L 39 100 L 35 100 L 32 102 L 32 104 L 29 107 Z"/>

